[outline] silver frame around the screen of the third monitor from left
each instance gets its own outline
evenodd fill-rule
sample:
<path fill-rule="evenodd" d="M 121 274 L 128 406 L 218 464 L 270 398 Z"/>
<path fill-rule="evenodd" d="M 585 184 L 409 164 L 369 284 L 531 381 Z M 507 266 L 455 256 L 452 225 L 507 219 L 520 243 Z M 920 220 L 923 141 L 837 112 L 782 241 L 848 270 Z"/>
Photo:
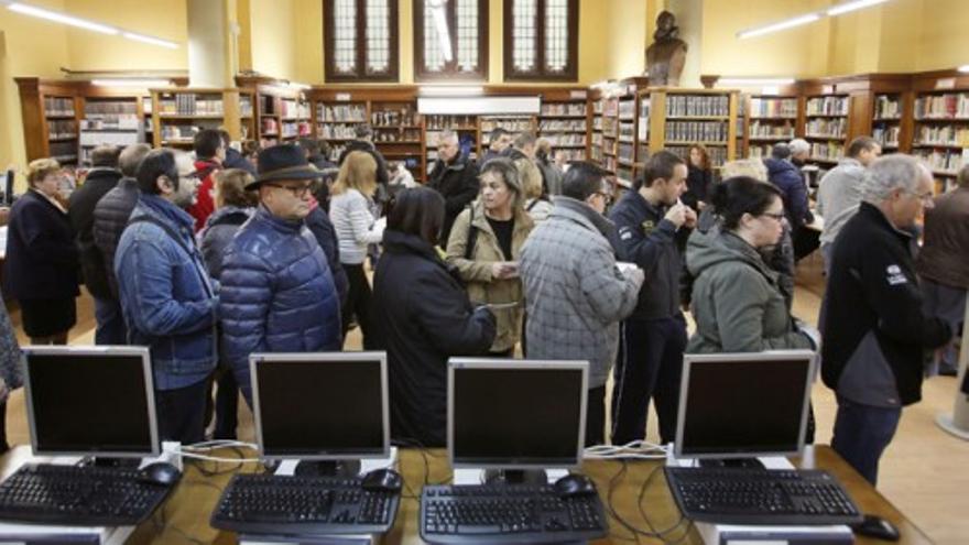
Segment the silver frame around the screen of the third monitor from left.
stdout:
<path fill-rule="evenodd" d="M 469 462 L 455 457 L 455 372 L 460 369 L 472 370 L 579 370 L 581 371 L 581 395 L 579 400 L 579 430 L 575 458 L 563 464 L 499 464 Z M 510 360 L 505 358 L 450 358 L 447 362 L 447 457 L 455 469 L 577 469 L 583 464 L 586 447 L 586 417 L 589 390 L 589 362 L 586 360 Z"/>

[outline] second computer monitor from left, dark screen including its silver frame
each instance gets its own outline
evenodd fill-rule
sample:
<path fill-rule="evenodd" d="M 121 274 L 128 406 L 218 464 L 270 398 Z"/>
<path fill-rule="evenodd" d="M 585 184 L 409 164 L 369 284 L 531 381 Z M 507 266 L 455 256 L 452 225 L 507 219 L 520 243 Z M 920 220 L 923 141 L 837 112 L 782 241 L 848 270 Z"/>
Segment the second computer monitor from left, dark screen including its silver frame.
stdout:
<path fill-rule="evenodd" d="M 263 457 L 390 453 L 385 352 L 254 353 L 250 364 Z"/>

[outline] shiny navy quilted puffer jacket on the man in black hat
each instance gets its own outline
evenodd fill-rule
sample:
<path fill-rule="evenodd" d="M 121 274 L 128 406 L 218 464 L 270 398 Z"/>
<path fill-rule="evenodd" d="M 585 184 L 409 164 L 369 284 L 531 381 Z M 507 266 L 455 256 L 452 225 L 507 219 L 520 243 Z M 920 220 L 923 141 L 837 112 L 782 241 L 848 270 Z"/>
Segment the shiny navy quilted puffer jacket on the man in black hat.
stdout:
<path fill-rule="evenodd" d="M 250 353 L 340 349 L 339 295 L 303 221 L 259 207 L 226 249 L 220 279 L 222 349 L 250 406 Z"/>

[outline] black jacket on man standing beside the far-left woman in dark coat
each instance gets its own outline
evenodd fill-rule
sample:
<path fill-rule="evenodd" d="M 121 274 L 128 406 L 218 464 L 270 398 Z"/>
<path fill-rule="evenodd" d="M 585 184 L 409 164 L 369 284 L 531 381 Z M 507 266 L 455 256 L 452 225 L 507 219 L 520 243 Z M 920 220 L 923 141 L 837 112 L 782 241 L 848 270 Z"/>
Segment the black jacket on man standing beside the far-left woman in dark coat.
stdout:
<path fill-rule="evenodd" d="M 108 192 L 118 185 L 121 172 L 113 168 L 96 168 L 91 171 L 84 184 L 70 194 L 70 206 L 67 217 L 77 240 L 80 259 L 80 271 L 87 290 L 99 299 L 113 299 L 108 273 L 105 271 L 105 258 L 95 244 L 95 207 Z"/>

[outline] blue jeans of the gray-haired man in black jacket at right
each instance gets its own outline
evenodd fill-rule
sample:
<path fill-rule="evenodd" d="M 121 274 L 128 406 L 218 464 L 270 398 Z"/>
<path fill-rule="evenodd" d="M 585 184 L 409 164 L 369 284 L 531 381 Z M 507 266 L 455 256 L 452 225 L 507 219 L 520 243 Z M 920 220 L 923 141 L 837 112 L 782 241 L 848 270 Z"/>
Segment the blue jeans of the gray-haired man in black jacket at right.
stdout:
<path fill-rule="evenodd" d="M 874 487 L 879 459 L 895 436 L 901 417 L 902 407 L 862 405 L 839 396 L 831 448 Z"/>

